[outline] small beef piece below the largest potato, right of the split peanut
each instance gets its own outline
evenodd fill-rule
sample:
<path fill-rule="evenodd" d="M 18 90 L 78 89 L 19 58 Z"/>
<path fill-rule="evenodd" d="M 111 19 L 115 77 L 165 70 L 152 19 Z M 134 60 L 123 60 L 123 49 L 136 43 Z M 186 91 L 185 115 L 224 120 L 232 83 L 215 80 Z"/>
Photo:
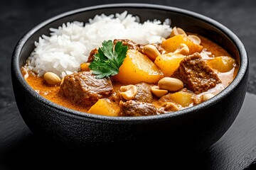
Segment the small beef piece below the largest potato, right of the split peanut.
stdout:
<path fill-rule="evenodd" d="M 153 95 L 151 94 L 151 86 L 144 82 L 135 84 L 137 86 L 138 92 L 135 96 L 136 101 L 143 101 L 146 103 L 151 103 L 153 101 Z"/>

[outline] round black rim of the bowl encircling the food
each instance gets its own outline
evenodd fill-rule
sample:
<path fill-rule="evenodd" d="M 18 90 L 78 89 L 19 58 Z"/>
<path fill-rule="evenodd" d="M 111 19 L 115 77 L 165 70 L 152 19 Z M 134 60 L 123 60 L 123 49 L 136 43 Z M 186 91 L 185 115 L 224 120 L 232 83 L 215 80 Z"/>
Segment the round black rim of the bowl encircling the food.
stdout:
<path fill-rule="evenodd" d="M 34 91 L 31 88 L 31 86 L 29 86 L 27 84 L 25 79 L 23 79 L 23 76 L 21 74 L 21 68 L 19 68 L 20 54 L 21 54 L 21 50 L 23 49 L 23 45 L 25 45 L 28 38 L 30 38 L 31 35 L 33 35 L 33 33 L 36 33 L 36 31 L 43 28 L 43 26 L 46 26 L 47 24 L 52 23 L 55 20 L 73 15 L 75 13 L 80 13 L 83 11 L 99 10 L 101 8 L 120 8 L 120 7 L 121 8 L 151 8 L 151 9 L 164 10 L 164 11 L 174 11 L 176 13 L 182 13 L 183 15 L 186 15 L 186 16 L 191 16 L 200 21 L 208 23 L 210 26 L 217 28 L 222 33 L 227 35 L 228 38 L 234 43 L 235 47 L 237 47 L 237 49 L 238 49 L 238 52 L 240 55 L 240 68 L 238 69 L 237 76 L 235 77 L 235 79 L 233 79 L 231 84 L 229 86 L 227 86 L 225 89 L 223 89 L 223 91 L 220 91 L 220 93 L 218 95 L 216 95 L 213 98 L 210 98 L 208 101 L 200 103 L 196 106 L 184 108 L 180 111 L 176 111 L 173 113 L 165 113 L 165 114 L 161 114 L 161 115 L 136 116 L 136 117 L 124 117 L 124 116 L 113 117 L 113 116 L 107 116 L 107 115 L 96 115 L 96 114 L 92 114 L 92 113 L 84 113 L 84 112 L 80 112 L 80 111 L 75 111 L 70 108 L 65 108 L 64 106 L 60 106 L 56 103 L 53 103 L 52 101 L 49 101 L 46 98 L 43 98 L 43 96 L 36 93 L 36 91 Z M 99 14 L 101 14 L 101 13 L 99 13 Z M 55 109 L 61 111 L 62 113 L 72 115 L 72 116 L 78 116 L 80 118 L 90 118 L 90 119 L 95 119 L 95 120 L 99 120 L 99 121 L 111 120 L 112 122 L 126 122 L 127 120 L 129 120 L 129 122 L 131 122 L 131 121 L 137 122 L 137 121 L 141 121 L 141 120 L 147 120 L 147 121 L 161 120 L 161 119 L 175 117 L 178 115 L 188 115 L 195 111 L 200 111 L 203 108 L 208 108 L 208 107 L 212 106 L 213 104 L 218 103 L 218 101 L 223 100 L 223 98 L 225 98 L 225 96 L 228 96 L 228 94 L 230 94 L 232 91 L 235 90 L 235 87 L 238 86 L 238 84 L 240 84 L 240 81 L 243 79 L 243 77 L 245 77 L 247 68 L 248 68 L 248 58 L 247 58 L 247 52 L 245 50 L 244 45 L 242 44 L 240 39 L 237 37 L 237 35 L 235 35 L 230 29 L 223 26 L 223 24 L 221 24 L 218 21 L 215 21 L 211 18 L 208 18 L 207 16 L 203 16 L 200 13 L 188 11 L 183 8 L 177 8 L 174 6 L 164 6 L 164 5 L 159 5 L 159 4 L 144 4 L 144 3 L 102 4 L 102 5 L 78 8 L 78 9 L 74 9 L 74 10 L 67 11 L 64 13 L 60 13 L 57 16 L 53 16 L 51 18 L 48 18 L 46 21 L 39 23 L 37 26 L 35 26 L 31 30 L 29 30 L 28 33 L 23 35 L 23 37 L 18 41 L 18 43 L 14 49 L 12 58 L 11 58 L 11 69 L 13 69 L 12 70 L 14 72 L 13 74 L 16 74 L 16 77 L 18 78 L 18 81 L 20 81 L 21 86 L 23 86 L 29 94 L 31 94 L 32 96 L 35 96 L 41 102 L 46 104 L 46 106 L 55 108 Z M 12 77 L 13 77 L 13 74 L 11 74 Z"/>

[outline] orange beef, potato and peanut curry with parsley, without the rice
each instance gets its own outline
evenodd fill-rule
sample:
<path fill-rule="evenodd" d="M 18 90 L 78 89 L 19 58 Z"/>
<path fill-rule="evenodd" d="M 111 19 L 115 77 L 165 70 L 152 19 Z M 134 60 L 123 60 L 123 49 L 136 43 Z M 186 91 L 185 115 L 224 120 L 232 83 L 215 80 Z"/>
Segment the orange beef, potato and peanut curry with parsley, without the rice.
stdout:
<path fill-rule="evenodd" d="M 163 25 L 165 32 L 156 41 L 103 40 L 74 72 L 65 64 L 64 74 L 38 72 L 33 52 L 21 68 L 23 77 L 53 103 L 108 116 L 172 113 L 207 101 L 233 81 L 239 64 L 223 47 L 200 33 Z M 53 62 L 53 67 L 58 66 Z"/>

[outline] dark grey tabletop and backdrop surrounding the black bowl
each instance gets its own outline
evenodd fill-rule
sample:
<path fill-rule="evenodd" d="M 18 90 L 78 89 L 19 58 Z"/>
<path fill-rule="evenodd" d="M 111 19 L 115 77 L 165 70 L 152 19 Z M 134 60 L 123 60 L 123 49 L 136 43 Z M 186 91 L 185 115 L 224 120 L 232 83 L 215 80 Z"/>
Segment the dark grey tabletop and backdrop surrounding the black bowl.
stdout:
<path fill-rule="evenodd" d="M 256 1 L 0 1 L 0 169 L 33 169 L 37 166 L 60 167 L 78 164 L 83 166 L 91 159 L 76 159 L 75 153 L 63 153 L 58 147 L 35 137 L 18 113 L 11 87 L 11 55 L 18 40 L 38 23 L 65 11 L 86 6 L 113 3 L 149 3 L 175 6 L 201 13 L 230 28 L 242 40 L 249 55 L 250 75 L 247 94 L 235 122 L 206 152 L 183 153 L 178 161 L 171 162 L 191 169 L 254 169 L 256 166 Z M 102 154 L 102 153 L 101 153 Z M 46 157 L 43 155 L 47 155 Z M 85 153 L 86 155 L 86 153 Z M 102 162 L 103 155 L 93 157 Z M 191 157 L 191 155 L 193 155 Z M 116 155 L 118 157 L 118 155 Z M 125 162 L 139 162 L 142 158 L 131 157 Z M 70 158 L 73 159 L 70 159 Z M 148 160 L 154 160 L 156 155 Z M 159 156 L 160 157 L 160 156 Z M 60 158 L 60 161 L 56 161 Z M 74 159 L 75 158 L 75 159 Z M 92 157 L 91 157 L 92 158 Z M 100 159 L 102 158 L 102 159 Z M 73 162 L 70 162 L 70 161 Z M 85 162 L 81 162 L 81 161 Z M 37 166 L 32 166 L 29 162 Z M 115 159 L 113 157 L 112 162 Z M 68 164 L 69 162 L 69 164 Z M 111 162 L 110 162 L 111 164 Z M 152 162 L 153 164 L 153 162 Z M 163 164 L 163 162 L 161 162 Z M 97 165 L 97 164 L 95 164 Z M 106 164 L 107 165 L 107 164 Z M 108 164 L 109 165 L 109 164 Z"/>

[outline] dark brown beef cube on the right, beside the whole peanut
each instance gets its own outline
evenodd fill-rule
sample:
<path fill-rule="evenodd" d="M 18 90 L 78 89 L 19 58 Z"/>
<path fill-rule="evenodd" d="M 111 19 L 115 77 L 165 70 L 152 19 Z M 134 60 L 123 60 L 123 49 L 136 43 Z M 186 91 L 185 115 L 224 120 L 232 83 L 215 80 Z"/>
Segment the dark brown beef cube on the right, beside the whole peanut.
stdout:
<path fill-rule="evenodd" d="M 208 67 L 198 52 L 185 57 L 171 77 L 181 79 L 184 86 L 195 94 L 201 94 L 221 83 L 218 75 Z"/>

